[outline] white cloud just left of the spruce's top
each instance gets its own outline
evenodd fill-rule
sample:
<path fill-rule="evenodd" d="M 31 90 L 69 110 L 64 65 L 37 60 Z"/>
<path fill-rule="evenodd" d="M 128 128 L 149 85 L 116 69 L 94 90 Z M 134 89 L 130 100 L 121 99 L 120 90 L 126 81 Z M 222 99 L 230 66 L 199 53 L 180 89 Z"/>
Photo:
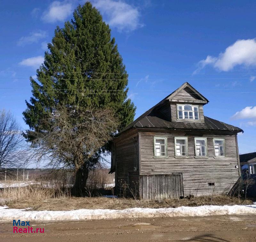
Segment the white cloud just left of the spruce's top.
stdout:
<path fill-rule="evenodd" d="M 72 13 L 72 4 L 67 2 L 54 1 L 49 8 L 43 12 L 42 20 L 47 23 L 64 21 Z"/>

